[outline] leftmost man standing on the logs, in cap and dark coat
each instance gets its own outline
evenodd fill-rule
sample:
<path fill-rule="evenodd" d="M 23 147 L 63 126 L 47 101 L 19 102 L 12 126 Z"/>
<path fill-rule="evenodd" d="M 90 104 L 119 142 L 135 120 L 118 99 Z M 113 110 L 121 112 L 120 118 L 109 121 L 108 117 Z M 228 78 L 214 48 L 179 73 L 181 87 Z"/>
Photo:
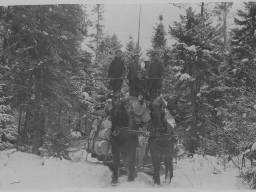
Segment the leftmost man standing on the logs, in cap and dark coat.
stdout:
<path fill-rule="evenodd" d="M 122 51 L 117 50 L 115 52 L 116 57 L 111 61 L 110 67 L 108 69 L 108 78 L 119 78 L 111 79 L 110 84 L 113 90 L 114 99 L 120 99 L 121 88 L 123 84 L 123 79 L 125 78 L 127 67 L 125 61 L 122 59 Z"/>

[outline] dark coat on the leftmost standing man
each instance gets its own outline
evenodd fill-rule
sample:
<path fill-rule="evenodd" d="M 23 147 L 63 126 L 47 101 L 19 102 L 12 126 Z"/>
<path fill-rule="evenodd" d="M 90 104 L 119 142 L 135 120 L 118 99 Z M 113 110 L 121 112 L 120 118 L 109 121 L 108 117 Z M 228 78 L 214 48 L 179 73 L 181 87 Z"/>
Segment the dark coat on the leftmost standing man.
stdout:
<path fill-rule="evenodd" d="M 109 78 L 121 78 L 125 77 L 127 72 L 127 67 L 125 61 L 122 58 L 114 58 L 108 69 Z"/>

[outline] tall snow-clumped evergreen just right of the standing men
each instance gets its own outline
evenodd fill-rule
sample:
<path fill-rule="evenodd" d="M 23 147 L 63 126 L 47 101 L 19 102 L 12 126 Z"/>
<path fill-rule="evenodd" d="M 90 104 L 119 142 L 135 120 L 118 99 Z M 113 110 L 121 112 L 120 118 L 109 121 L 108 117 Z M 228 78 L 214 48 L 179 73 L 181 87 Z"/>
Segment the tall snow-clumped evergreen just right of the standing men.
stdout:
<path fill-rule="evenodd" d="M 218 76 L 216 66 L 220 63 L 220 55 L 213 51 L 220 49 L 218 30 L 210 23 L 206 12 L 195 14 L 189 7 L 186 9 L 186 15 L 180 15 L 180 22 L 169 26 L 169 34 L 178 41 L 172 51 L 171 71 L 174 72 L 174 77 L 179 78 L 179 81 L 173 82 L 177 91 L 173 105 L 176 105 L 174 108 L 177 108 L 177 111 L 183 109 L 179 112 L 179 120 L 186 122 L 183 126 L 189 129 L 188 146 L 192 153 L 208 139 L 204 125 L 212 120 L 211 116 L 215 113 L 214 107 L 207 99 L 209 89 L 203 89 L 209 84 L 216 86 L 213 80 Z M 190 110 L 187 111 L 189 105 Z M 218 143 L 217 140 L 215 142 Z"/>

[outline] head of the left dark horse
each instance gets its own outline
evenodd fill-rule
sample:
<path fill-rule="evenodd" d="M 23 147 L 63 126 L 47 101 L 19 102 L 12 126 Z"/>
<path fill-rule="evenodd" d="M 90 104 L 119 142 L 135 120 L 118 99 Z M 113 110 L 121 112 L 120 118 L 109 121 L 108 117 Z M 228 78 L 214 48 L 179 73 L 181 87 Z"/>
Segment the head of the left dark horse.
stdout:
<path fill-rule="evenodd" d="M 120 133 L 120 128 L 127 121 L 128 109 L 125 106 L 125 101 L 115 102 L 113 99 L 111 101 L 113 109 L 110 111 L 111 116 L 111 134 L 113 136 L 118 136 Z"/>

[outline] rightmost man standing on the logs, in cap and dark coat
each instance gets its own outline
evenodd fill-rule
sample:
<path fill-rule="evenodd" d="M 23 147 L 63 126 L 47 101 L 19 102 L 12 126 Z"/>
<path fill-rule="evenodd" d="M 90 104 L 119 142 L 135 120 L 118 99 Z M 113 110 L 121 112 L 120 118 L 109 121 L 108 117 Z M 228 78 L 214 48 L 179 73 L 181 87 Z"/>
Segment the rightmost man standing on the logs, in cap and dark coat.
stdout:
<path fill-rule="evenodd" d="M 150 78 L 163 78 L 163 63 L 159 61 L 159 53 L 153 53 L 153 61 L 149 64 L 146 71 L 146 79 Z M 149 91 L 151 96 L 159 97 L 162 92 L 163 79 L 149 79 Z"/>

